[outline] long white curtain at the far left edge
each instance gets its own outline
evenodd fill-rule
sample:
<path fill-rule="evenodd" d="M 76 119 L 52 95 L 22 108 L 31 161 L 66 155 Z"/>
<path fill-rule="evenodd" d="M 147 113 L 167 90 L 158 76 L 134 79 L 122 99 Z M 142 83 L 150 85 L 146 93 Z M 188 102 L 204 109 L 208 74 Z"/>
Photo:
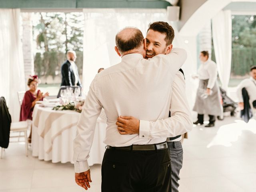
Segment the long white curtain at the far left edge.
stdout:
<path fill-rule="evenodd" d="M 16 122 L 20 117 L 17 92 L 25 90 L 20 9 L 0 9 L 0 60 L 0 96 Z"/>

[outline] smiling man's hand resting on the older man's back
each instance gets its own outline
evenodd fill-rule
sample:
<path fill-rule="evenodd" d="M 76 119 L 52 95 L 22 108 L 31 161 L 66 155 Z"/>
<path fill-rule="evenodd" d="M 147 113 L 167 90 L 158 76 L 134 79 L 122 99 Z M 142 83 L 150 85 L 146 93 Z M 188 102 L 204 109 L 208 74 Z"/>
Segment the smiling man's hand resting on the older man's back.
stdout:
<path fill-rule="evenodd" d="M 132 116 L 119 116 L 116 122 L 118 132 L 121 135 L 139 134 L 140 120 Z"/>

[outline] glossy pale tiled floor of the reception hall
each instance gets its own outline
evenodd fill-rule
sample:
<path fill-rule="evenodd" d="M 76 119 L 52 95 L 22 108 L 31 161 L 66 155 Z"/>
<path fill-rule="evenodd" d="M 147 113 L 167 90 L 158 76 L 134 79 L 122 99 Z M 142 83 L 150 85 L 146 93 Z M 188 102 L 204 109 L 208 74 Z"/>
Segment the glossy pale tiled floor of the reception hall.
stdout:
<path fill-rule="evenodd" d="M 256 122 L 226 117 L 214 128 L 195 126 L 184 140 L 180 192 L 256 192 Z M 100 165 L 89 192 L 100 192 Z M 70 163 L 53 164 L 10 143 L 0 160 L 0 192 L 82 192 Z"/>

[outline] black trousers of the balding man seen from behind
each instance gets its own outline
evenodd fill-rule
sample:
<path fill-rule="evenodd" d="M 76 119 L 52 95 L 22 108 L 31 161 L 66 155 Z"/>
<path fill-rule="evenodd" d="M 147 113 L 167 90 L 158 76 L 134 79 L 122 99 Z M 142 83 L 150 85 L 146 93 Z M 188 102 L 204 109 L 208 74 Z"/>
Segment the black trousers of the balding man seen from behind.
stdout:
<path fill-rule="evenodd" d="M 168 149 L 107 149 L 102 161 L 102 192 L 171 192 Z"/>

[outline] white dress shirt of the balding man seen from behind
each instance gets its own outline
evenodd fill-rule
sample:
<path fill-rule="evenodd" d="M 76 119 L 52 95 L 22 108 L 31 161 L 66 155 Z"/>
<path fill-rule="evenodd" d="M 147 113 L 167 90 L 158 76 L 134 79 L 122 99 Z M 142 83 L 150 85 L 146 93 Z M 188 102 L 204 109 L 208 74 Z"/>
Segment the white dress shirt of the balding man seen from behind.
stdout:
<path fill-rule="evenodd" d="M 77 125 L 75 172 L 89 169 L 87 159 L 102 107 L 108 118 L 105 144 L 120 147 L 156 144 L 166 140 L 166 135 L 154 139 L 146 134 L 121 135 L 116 120 L 120 115 L 146 121 L 168 118 L 174 76 L 185 60 L 186 51 L 178 48 L 170 54 L 159 54 L 148 60 L 141 54 L 127 54 L 119 64 L 96 74 Z M 171 128 L 168 122 L 165 126 Z"/>

